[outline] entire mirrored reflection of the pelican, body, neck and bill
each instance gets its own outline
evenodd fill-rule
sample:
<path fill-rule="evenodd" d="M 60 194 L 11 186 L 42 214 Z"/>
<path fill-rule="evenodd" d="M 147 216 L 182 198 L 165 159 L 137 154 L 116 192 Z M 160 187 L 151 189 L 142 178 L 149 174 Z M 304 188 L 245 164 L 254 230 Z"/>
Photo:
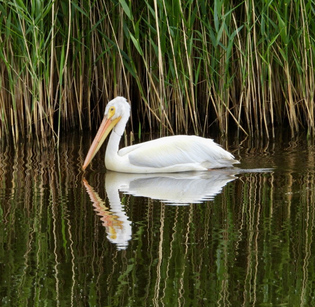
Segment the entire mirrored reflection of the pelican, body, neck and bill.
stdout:
<path fill-rule="evenodd" d="M 83 179 L 83 183 L 95 211 L 106 227 L 107 238 L 118 249 L 125 249 L 132 235 L 131 221 L 124 212 L 119 191 L 183 205 L 213 199 L 223 186 L 236 178 L 231 170 L 178 174 L 125 174 L 107 171 L 105 189 L 110 208 L 106 207 L 86 179 Z"/>

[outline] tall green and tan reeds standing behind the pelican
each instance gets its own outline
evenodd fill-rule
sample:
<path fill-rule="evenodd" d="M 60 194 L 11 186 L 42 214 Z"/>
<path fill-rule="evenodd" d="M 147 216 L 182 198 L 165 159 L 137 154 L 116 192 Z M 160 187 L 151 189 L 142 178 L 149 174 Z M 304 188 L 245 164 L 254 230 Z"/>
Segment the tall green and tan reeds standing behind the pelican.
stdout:
<path fill-rule="evenodd" d="M 0 1 L 0 137 L 57 144 L 117 95 L 136 132 L 314 135 L 312 1 Z"/>

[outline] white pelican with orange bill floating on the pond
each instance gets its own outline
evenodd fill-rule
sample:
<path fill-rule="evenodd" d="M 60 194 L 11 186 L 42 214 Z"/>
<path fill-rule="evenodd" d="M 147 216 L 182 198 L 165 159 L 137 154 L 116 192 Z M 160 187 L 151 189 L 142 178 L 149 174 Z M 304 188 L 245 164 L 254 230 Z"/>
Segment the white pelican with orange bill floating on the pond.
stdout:
<path fill-rule="evenodd" d="M 234 156 L 212 139 L 195 135 L 174 135 L 118 150 L 119 141 L 130 116 L 130 105 L 124 97 L 112 99 L 83 164 L 88 166 L 113 129 L 105 153 L 107 169 L 121 173 L 176 173 L 206 171 L 231 167 L 239 163 Z"/>

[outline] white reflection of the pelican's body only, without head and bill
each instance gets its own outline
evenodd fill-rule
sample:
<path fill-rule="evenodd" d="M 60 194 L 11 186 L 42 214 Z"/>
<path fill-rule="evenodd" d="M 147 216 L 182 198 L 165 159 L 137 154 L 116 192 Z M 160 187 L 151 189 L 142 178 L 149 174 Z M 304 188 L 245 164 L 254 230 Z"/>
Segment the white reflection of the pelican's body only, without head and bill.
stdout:
<path fill-rule="evenodd" d="M 236 179 L 231 170 L 174 174 L 124 174 L 106 172 L 106 192 L 149 197 L 170 204 L 200 203 L 213 199 Z M 107 194 L 108 195 L 108 194 Z"/>

